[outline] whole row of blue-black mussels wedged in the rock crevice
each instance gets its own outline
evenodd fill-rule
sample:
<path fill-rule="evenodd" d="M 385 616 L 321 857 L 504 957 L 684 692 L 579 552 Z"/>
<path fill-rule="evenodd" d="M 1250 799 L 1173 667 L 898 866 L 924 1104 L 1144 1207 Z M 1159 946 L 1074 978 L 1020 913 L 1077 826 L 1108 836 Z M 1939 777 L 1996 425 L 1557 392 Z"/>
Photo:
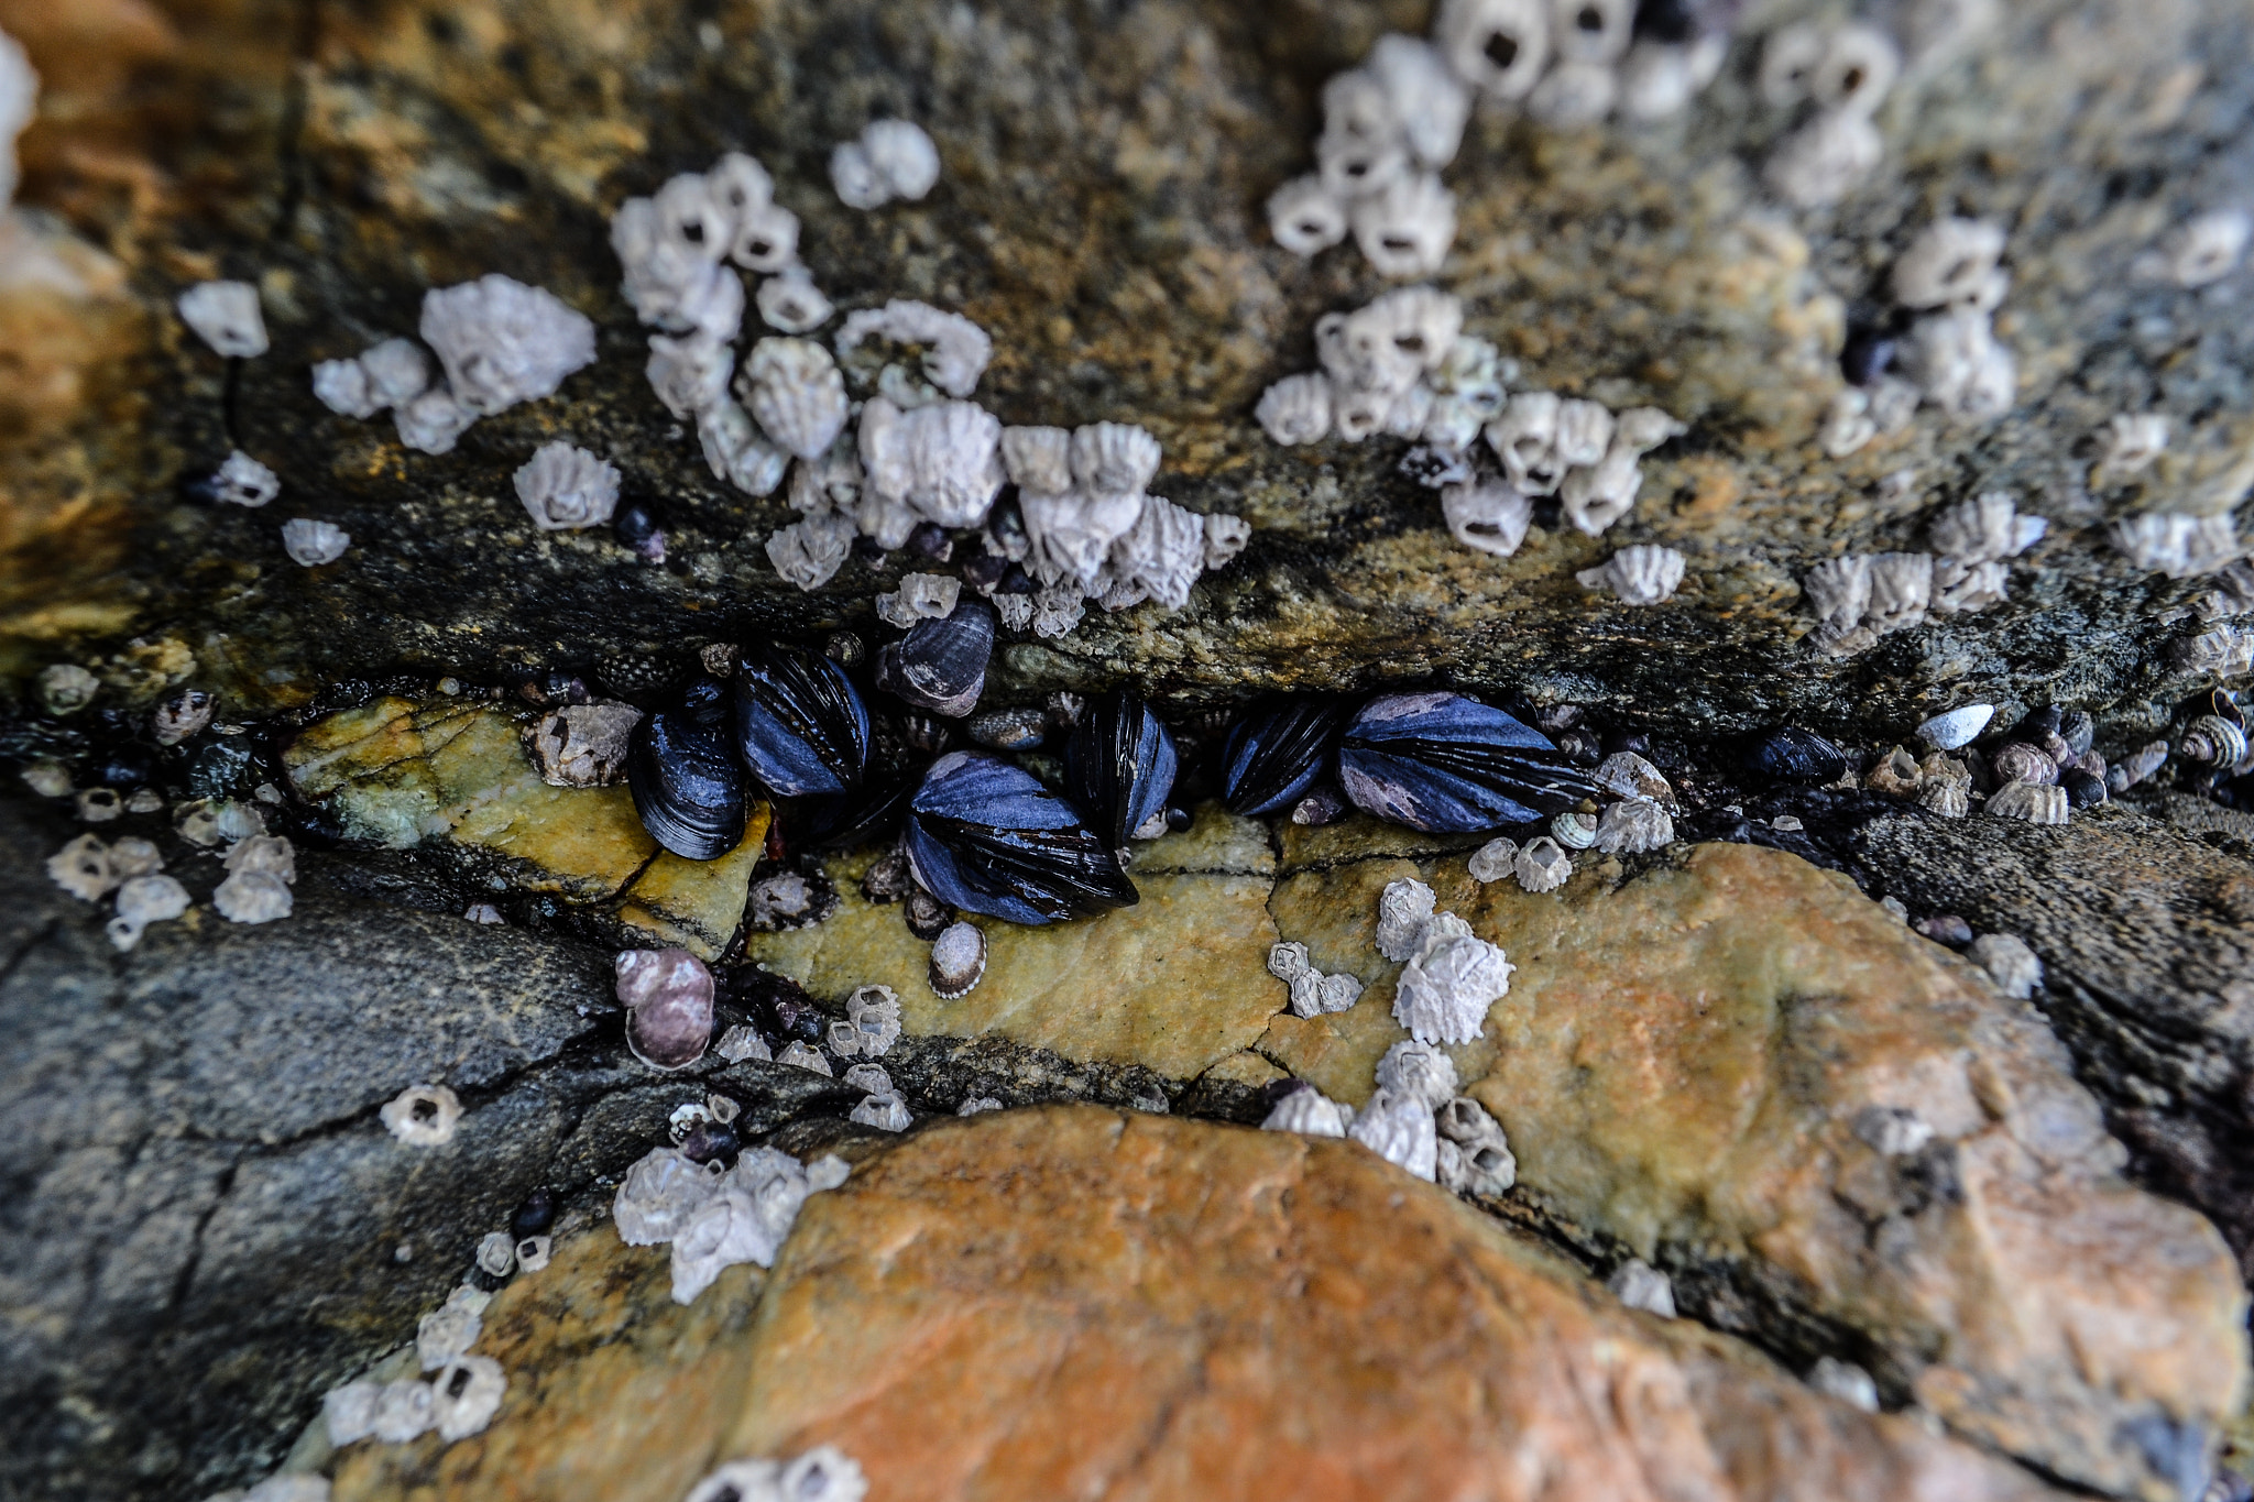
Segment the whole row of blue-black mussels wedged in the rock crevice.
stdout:
<path fill-rule="evenodd" d="M 913 705 L 965 716 L 990 646 L 992 622 L 978 610 L 926 619 L 879 653 L 875 680 Z M 1174 734 L 1125 689 L 1080 712 L 1059 795 L 987 750 L 884 770 L 868 703 L 825 653 L 753 644 L 733 669 L 728 682 L 696 678 L 633 730 L 627 784 L 636 811 L 676 856 L 715 860 L 735 849 L 760 790 L 787 844 L 897 835 L 908 874 L 938 901 L 1055 923 L 1132 905 L 1127 842 L 1188 826 L 1168 806 L 1181 768 Z M 944 745 L 944 736 L 920 739 Z M 1314 824 L 1352 804 L 1447 833 L 1546 820 L 1598 790 L 1539 730 L 1447 691 L 1269 700 L 1228 727 L 1217 775 L 1224 802 L 1242 815 L 1292 811 Z"/>

